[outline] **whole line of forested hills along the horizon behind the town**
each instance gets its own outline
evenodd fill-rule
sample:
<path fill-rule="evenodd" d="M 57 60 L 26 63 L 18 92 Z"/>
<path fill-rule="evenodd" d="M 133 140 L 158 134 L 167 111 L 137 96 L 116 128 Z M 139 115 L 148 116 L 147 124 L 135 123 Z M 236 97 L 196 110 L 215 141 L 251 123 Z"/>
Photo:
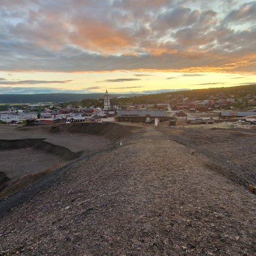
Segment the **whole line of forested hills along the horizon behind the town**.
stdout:
<path fill-rule="evenodd" d="M 118 99 L 119 103 L 133 103 L 133 104 L 143 104 L 143 103 L 161 103 L 169 101 L 172 98 L 186 98 L 189 100 L 205 100 L 209 97 L 223 93 L 227 98 L 235 95 L 235 98 L 243 98 L 247 94 L 256 95 L 256 84 L 252 85 L 241 85 L 233 87 L 219 87 L 210 89 L 197 89 L 188 91 L 178 91 L 178 92 L 166 92 L 158 94 L 111 94 L 110 97 L 116 98 L 119 96 L 126 96 L 130 98 Z M 101 99 L 103 98 L 103 93 L 88 93 L 88 94 L 78 94 L 78 93 L 48 93 L 48 94 L 0 94 L 0 103 L 37 103 L 37 102 L 70 102 L 70 101 L 81 101 L 83 99 Z M 218 97 L 218 96 L 217 96 Z"/>

